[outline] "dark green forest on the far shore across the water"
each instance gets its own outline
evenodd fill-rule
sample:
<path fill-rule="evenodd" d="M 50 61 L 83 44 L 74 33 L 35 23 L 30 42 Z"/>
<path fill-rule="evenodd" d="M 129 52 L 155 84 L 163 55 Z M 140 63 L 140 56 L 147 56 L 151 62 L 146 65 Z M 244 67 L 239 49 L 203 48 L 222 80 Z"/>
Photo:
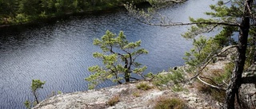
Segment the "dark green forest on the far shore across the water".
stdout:
<path fill-rule="evenodd" d="M 0 0 L 0 26 L 113 9 L 132 0 Z M 134 3 L 145 2 L 136 0 Z"/>

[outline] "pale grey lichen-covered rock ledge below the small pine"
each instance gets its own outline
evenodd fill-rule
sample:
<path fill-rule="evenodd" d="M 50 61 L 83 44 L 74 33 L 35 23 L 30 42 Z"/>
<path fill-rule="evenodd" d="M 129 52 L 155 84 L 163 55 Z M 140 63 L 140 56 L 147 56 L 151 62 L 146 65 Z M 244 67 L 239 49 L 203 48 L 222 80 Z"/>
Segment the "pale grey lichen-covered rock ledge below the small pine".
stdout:
<path fill-rule="evenodd" d="M 189 108 L 218 108 L 217 102 L 211 101 L 210 103 L 209 100 L 202 97 L 205 95 L 198 93 L 195 88 L 180 92 L 160 91 L 158 88 L 154 88 L 153 84 L 143 82 L 152 87 L 150 90 L 143 91 L 136 87 L 141 83 L 56 95 L 42 101 L 34 109 L 152 109 L 160 96 L 183 99 Z M 189 88 L 188 85 L 184 87 Z M 118 96 L 118 103 L 109 106 L 107 103 L 114 96 Z"/>

